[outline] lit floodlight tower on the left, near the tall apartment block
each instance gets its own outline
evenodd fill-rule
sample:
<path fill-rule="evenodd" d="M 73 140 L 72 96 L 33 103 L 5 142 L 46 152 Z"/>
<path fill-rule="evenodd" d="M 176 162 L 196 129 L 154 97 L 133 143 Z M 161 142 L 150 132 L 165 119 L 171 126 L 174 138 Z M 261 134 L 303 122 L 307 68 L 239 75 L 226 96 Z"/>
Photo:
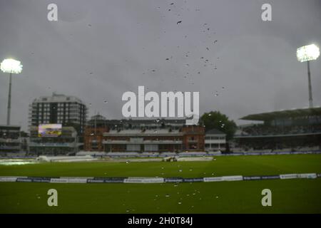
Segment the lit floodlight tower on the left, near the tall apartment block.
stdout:
<path fill-rule="evenodd" d="M 20 61 L 16 61 L 12 58 L 6 58 L 0 65 L 1 71 L 4 73 L 10 73 L 9 78 L 9 94 L 8 94 L 8 110 L 6 114 L 6 125 L 10 125 L 10 112 L 11 112 L 11 76 L 12 73 L 21 73 L 22 65 Z"/>

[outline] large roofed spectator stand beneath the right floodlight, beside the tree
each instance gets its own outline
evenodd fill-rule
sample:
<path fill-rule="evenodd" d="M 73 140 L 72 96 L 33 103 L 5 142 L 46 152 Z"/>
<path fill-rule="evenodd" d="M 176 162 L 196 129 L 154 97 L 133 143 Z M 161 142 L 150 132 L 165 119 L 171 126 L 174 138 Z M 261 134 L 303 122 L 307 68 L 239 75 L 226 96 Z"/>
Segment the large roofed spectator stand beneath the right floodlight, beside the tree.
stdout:
<path fill-rule="evenodd" d="M 234 137 L 234 151 L 316 151 L 321 148 L 320 107 L 253 114 L 240 120 L 262 123 L 240 126 Z"/>

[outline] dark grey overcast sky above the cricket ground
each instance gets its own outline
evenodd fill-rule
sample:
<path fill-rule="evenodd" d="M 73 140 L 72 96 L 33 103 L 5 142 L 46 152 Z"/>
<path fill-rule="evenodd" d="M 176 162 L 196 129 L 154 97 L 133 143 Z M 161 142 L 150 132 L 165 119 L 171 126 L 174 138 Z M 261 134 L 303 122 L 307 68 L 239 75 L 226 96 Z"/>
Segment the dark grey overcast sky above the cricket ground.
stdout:
<path fill-rule="evenodd" d="M 58 21 L 47 20 L 50 3 Z M 263 3 L 272 21 L 261 20 Z M 90 115 L 121 118 L 121 95 L 138 86 L 200 91 L 200 113 L 220 110 L 243 123 L 250 113 L 308 105 L 307 67 L 295 51 L 321 46 L 321 0 L 0 0 L 0 32 L 0 59 L 24 65 L 11 108 L 11 124 L 24 130 L 41 95 L 76 95 L 92 104 Z M 311 63 L 315 105 L 320 61 Z M 8 83 L 0 73 L 2 124 Z"/>

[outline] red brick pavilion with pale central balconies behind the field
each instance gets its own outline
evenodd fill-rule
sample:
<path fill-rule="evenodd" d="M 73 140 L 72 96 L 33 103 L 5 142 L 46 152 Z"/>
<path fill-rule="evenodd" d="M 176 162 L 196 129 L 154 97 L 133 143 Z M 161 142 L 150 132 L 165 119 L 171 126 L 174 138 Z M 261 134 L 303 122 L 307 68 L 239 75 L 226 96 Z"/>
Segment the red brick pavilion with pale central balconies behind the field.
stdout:
<path fill-rule="evenodd" d="M 103 123 L 103 124 L 102 124 Z M 96 126 L 96 127 L 95 127 Z M 205 131 L 185 120 L 105 120 L 89 124 L 85 150 L 105 152 L 204 151 Z"/>

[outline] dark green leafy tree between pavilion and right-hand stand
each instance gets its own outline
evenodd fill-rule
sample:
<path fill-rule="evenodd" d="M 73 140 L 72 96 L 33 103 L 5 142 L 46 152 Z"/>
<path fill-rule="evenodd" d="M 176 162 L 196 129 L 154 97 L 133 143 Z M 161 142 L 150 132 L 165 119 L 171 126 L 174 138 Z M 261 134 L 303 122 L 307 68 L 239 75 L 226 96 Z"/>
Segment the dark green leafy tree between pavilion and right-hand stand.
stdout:
<path fill-rule="evenodd" d="M 226 140 L 233 138 L 237 128 L 233 120 L 229 120 L 228 116 L 220 113 L 219 111 L 211 111 L 204 113 L 200 117 L 200 125 L 205 126 L 205 130 L 217 129 L 226 134 Z"/>

